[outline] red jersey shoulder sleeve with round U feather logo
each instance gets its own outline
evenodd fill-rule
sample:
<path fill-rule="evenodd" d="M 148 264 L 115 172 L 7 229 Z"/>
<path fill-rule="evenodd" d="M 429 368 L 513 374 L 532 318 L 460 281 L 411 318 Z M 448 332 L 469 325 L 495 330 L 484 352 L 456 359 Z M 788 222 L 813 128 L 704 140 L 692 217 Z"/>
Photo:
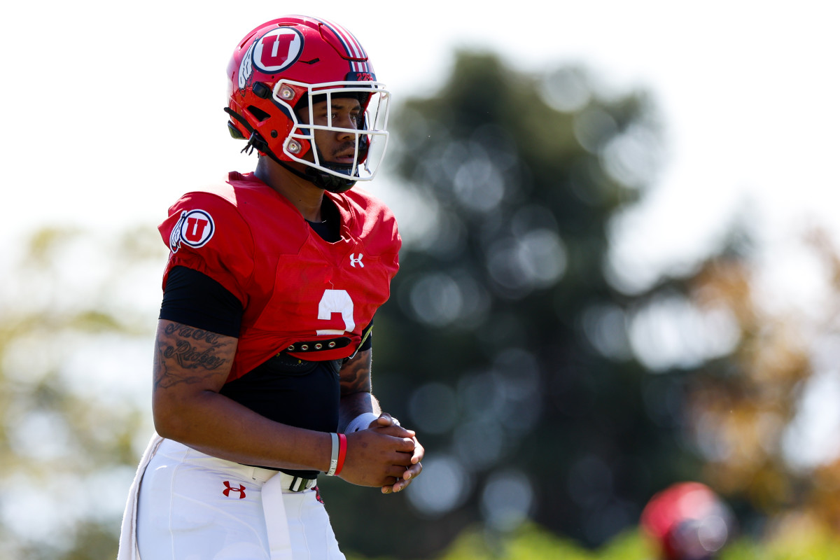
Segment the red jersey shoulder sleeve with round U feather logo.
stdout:
<path fill-rule="evenodd" d="M 158 230 L 169 246 L 163 278 L 173 267 L 185 266 L 216 280 L 248 306 L 254 275 L 254 239 L 232 201 L 207 192 L 181 197 Z"/>

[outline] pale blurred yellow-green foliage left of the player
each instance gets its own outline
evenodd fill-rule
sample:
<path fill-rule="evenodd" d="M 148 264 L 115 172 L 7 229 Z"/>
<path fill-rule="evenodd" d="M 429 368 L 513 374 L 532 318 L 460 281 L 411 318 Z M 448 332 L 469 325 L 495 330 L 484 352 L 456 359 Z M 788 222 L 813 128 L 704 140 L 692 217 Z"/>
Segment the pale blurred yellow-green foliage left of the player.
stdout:
<path fill-rule="evenodd" d="M 134 348 L 148 348 L 154 310 L 134 288 L 160 285 L 165 251 L 152 242 L 148 230 L 45 229 L 3 275 L 0 557 L 116 556 L 136 440 L 149 432 L 137 390 L 148 364 Z"/>

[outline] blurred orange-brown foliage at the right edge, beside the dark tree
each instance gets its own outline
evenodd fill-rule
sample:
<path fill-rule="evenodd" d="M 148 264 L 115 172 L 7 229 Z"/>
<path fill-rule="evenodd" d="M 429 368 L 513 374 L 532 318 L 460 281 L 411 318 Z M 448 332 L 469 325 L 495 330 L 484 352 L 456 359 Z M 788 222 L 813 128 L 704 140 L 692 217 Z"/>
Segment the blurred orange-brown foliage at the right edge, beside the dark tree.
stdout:
<path fill-rule="evenodd" d="M 806 427 L 799 421 L 815 414 L 804 404 L 806 391 L 830 378 L 840 359 L 840 252 L 819 228 L 801 243 L 827 282 L 816 310 L 766 301 L 759 267 L 742 257 L 711 259 L 696 276 L 693 301 L 730 310 L 739 342 L 727 359 L 698 371 L 688 416 L 706 458 L 704 477 L 722 495 L 748 502 L 774 523 L 795 511 L 840 531 L 840 458 L 835 449 L 826 450 L 827 462 L 803 460 Z"/>

